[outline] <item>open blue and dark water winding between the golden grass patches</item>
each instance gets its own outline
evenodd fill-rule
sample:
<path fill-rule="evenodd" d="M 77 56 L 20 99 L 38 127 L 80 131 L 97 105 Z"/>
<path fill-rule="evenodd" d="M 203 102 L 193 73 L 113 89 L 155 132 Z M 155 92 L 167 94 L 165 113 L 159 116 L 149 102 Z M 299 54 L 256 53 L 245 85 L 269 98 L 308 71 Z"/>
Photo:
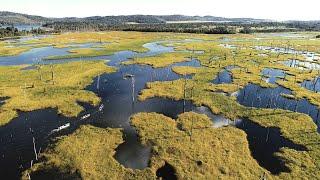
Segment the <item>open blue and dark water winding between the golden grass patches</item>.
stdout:
<path fill-rule="evenodd" d="M 248 134 L 248 141 L 253 157 L 259 161 L 261 166 L 274 173 L 286 171 L 286 169 L 281 165 L 279 166 L 279 161 L 274 159 L 270 154 L 278 151 L 280 147 L 303 150 L 302 147 L 295 146 L 290 141 L 282 139 L 279 131 L 272 128 L 269 128 L 268 131 L 270 131 L 270 139 L 274 140 L 270 140 L 268 143 L 271 143 L 269 146 L 275 147 L 265 148 L 265 145 L 259 140 L 264 139 L 265 141 L 265 129 L 261 129 L 261 127 L 255 124 L 250 124 L 248 123 L 249 121 L 239 120 L 233 123 L 233 121 L 224 118 L 222 115 L 213 115 L 206 107 L 195 107 L 189 101 L 185 103 L 185 106 L 183 101 L 161 98 L 152 98 L 143 102 L 138 101 L 137 96 L 145 88 L 147 82 L 171 81 L 182 78 L 182 76 L 172 72 L 172 66 L 200 66 L 199 62 L 195 59 L 190 62 L 177 63 L 170 67 L 158 69 L 150 66 L 120 65 L 122 61 L 135 56 L 151 56 L 174 51 L 172 47 L 164 47 L 157 43 L 148 43 L 145 47 L 150 49 L 150 51 L 147 53 L 121 51 L 112 56 L 86 58 L 89 60 L 108 59 L 110 60 L 108 62 L 109 65 L 118 67 L 118 71 L 115 73 L 103 74 L 96 77 L 94 82 L 86 88 L 101 97 L 101 104 L 104 105 L 104 108 L 100 109 L 101 111 L 99 111 L 99 107 L 92 107 L 81 103 L 85 107 L 85 111 L 76 118 L 66 118 L 58 115 L 55 109 L 20 112 L 17 118 L 9 124 L 0 127 L 0 177 L 3 179 L 19 179 L 19 173 L 30 167 L 31 160 L 35 159 L 33 138 L 37 152 L 41 152 L 54 137 L 70 134 L 83 124 L 97 127 L 123 128 L 124 143 L 116 149 L 115 158 L 125 167 L 143 169 L 148 166 L 151 148 L 141 145 L 135 129 L 130 125 L 130 116 L 138 112 L 158 112 L 176 118 L 177 115 L 184 111 L 195 111 L 207 114 L 210 118 L 215 119 L 214 127 L 235 125 Z M 0 65 L 32 65 L 35 64 L 35 60 L 39 56 L 65 55 L 66 53 L 66 49 L 54 49 L 53 51 L 55 52 L 52 52 L 52 49 L 48 50 L 48 48 L 50 49 L 51 47 L 31 50 L 20 56 L 0 58 Z M 50 63 L 78 60 L 81 60 L 81 58 L 56 60 L 50 61 Z M 24 70 L 29 70 L 29 68 Z M 134 75 L 133 78 L 125 78 L 128 74 Z M 232 82 L 232 76 L 228 70 L 221 72 L 219 79 L 217 83 Z M 319 110 L 315 106 L 310 105 L 306 100 L 295 101 L 279 96 L 281 93 L 290 94 L 291 92 L 281 87 L 265 89 L 256 85 L 248 85 L 240 91 L 237 98 L 245 106 L 278 107 L 296 110 L 309 114 L 315 122 L 319 121 Z M 90 114 L 90 117 L 83 118 L 88 114 Z M 53 129 L 67 123 L 70 123 L 69 128 L 49 136 Z M 267 159 L 261 157 L 261 154 L 266 150 L 268 151 Z M 166 164 L 163 168 L 160 168 L 157 171 L 157 175 L 163 178 L 171 177 L 174 169 L 170 166 Z M 171 174 L 166 175 L 168 172 Z"/>

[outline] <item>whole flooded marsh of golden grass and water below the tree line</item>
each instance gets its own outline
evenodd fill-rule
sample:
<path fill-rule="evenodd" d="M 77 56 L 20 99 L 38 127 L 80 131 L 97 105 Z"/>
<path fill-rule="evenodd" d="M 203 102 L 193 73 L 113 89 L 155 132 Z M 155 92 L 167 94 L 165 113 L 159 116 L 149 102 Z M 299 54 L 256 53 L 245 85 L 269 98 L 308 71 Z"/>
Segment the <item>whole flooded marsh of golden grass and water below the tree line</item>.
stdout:
<path fill-rule="evenodd" d="M 298 35 L 2 41 L 0 175 L 317 179 L 320 40 Z"/>

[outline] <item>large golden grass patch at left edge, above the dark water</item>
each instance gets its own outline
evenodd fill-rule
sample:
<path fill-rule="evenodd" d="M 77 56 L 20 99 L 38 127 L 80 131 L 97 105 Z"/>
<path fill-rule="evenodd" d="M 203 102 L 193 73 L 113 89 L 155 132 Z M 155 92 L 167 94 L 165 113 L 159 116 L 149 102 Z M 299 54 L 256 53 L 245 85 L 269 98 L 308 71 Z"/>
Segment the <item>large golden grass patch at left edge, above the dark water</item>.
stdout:
<path fill-rule="evenodd" d="M 65 116 L 76 116 L 83 110 L 77 102 L 100 102 L 93 92 L 83 89 L 94 77 L 115 71 L 105 61 L 43 65 L 27 71 L 20 70 L 22 67 L 0 67 L 0 97 L 9 97 L 0 107 L 1 125 L 14 118 L 18 110 L 57 108 Z"/>

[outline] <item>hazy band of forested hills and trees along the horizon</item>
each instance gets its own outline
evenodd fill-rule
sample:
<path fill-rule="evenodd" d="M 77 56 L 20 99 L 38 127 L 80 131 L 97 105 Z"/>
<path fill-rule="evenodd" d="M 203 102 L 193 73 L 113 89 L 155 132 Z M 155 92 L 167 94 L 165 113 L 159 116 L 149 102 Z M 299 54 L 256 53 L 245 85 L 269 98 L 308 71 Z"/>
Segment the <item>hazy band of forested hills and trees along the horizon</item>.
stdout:
<path fill-rule="evenodd" d="M 41 25 L 41 28 L 18 30 L 19 25 Z M 223 18 L 214 16 L 131 15 L 93 16 L 87 18 L 46 18 L 0 11 L 0 38 L 25 34 L 60 33 L 66 31 L 140 31 L 204 34 L 234 34 L 256 32 L 320 31 L 320 21 L 276 22 L 253 18 Z"/>

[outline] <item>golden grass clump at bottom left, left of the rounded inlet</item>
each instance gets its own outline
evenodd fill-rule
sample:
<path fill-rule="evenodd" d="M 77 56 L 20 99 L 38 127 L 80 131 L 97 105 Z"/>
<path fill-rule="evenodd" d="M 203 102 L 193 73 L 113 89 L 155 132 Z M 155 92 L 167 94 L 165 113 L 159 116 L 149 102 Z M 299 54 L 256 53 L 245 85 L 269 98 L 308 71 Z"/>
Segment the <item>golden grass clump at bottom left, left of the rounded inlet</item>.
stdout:
<path fill-rule="evenodd" d="M 31 178 L 50 179 L 155 179 L 150 169 L 126 169 L 113 158 L 122 142 L 120 129 L 81 126 L 41 154 L 43 161 L 25 171 L 22 179 L 28 173 Z"/>

